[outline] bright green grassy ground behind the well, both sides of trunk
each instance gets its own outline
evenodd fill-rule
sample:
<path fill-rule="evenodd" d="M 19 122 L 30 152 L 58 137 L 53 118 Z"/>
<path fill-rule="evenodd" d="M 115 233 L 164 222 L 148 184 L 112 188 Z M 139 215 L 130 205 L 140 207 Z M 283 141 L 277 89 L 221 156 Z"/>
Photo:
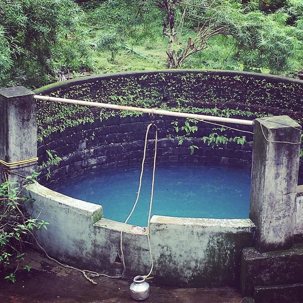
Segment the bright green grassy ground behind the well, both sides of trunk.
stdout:
<path fill-rule="evenodd" d="M 104 36 L 113 37 L 113 40 L 115 40 L 113 45 L 95 52 L 91 73 L 104 74 L 135 70 L 152 71 L 165 68 L 168 38 L 163 36 L 161 18 L 155 20 L 155 23 L 151 25 L 153 36 L 143 37 L 140 41 L 134 41 L 131 37 L 125 38 L 117 34 L 120 26 L 119 20 L 124 18 L 123 5 L 108 9 L 102 3 L 91 2 L 91 4 L 82 6 L 85 18 L 82 21 L 81 28 L 87 31 L 89 40 L 96 43 L 100 37 Z M 137 30 L 140 31 L 140 28 Z M 194 37 L 195 32 L 184 25 L 181 36 L 176 35 L 176 39 L 179 42 L 179 44 L 176 43 L 176 47 L 180 51 L 187 44 L 189 36 Z M 125 46 L 131 48 L 134 52 L 127 50 Z M 181 68 L 242 71 L 245 67 L 234 54 L 234 38 L 231 36 L 215 36 L 208 41 L 208 46 L 204 51 L 189 56 Z M 251 71 L 255 70 L 251 69 Z M 262 69 L 261 72 L 268 73 L 269 70 Z"/>

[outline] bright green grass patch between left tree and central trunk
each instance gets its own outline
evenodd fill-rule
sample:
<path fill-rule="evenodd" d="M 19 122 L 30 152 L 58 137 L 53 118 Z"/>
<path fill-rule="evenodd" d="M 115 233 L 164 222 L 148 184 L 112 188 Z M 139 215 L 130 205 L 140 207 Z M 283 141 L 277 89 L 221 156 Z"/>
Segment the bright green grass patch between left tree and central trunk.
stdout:
<path fill-rule="evenodd" d="M 161 26 L 155 25 L 156 36 L 153 41 L 146 39 L 135 43 L 132 38 L 118 38 L 116 35 L 121 17 L 115 15 L 119 14 L 118 8 L 106 11 L 102 7 L 102 3 L 93 6 L 86 4 L 82 8 L 85 12 L 85 18 L 81 27 L 88 31 L 91 42 L 97 41 L 99 37 L 104 35 L 114 35 L 116 40 L 115 45 L 105 47 L 93 56 L 93 72 L 95 74 L 165 68 L 168 40 L 163 37 Z M 126 49 L 125 46 L 139 54 Z"/>

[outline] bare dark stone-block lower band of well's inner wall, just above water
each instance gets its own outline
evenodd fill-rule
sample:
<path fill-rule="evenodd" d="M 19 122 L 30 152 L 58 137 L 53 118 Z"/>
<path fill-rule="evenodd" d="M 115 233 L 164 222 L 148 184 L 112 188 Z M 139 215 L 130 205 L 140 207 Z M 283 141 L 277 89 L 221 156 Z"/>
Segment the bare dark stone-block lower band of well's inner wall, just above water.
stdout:
<path fill-rule="evenodd" d="M 235 142 L 229 145 L 208 146 L 202 137 L 212 132 L 212 128 L 199 122 L 195 138 L 185 139 L 182 145 L 175 136 L 175 129 L 171 122 L 175 119 L 161 117 L 155 119 L 158 126 L 157 161 L 191 161 L 204 163 L 223 163 L 238 166 L 251 166 L 252 146 L 248 143 L 239 145 Z M 43 185 L 60 184 L 61 180 L 89 174 L 99 169 L 113 166 L 135 165 L 142 162 L 144 138 L 147 125 L 151 122 L 149 115 L 139 117 L 118 116 L 109 118 L 105 122 L 85 123 L 75 128 L 68 128 L 64 132 L 56 132 L 38 144 L 39 165 L 47 162 L 46 150 L 54 150 L 62 158 L 58 165 L 50 165 L 42 169 L 39 182 Z M 178 119 L 184 125 L 184 119 Z M 250 129 L 250 126 L 241 126 Z M 232 135 L 232 132 L 231 132 Z M 152 137 L 150 133 L 149 138 Z M 249 137 L 249 136 L 248 136 Z M 252 135 L 250 136 L 252 140 Z M 195 145 L 194 154 L 190 155 L 189 146 Z M 152 161 L 153 140 L 149 140 L 147 162 Z"/>

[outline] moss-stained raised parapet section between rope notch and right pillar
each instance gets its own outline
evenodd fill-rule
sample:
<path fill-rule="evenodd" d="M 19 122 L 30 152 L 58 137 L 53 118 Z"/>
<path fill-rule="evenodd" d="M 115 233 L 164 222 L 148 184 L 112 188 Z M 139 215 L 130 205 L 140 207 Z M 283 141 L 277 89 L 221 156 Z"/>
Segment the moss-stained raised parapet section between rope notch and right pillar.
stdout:
<path fill-rule="evenodd" d="M 237 286 L 240 252 L 254 245 L 254 231 L 250 219 L 154 215 L 150 226 L 153 275 L 163 285 Z"/>

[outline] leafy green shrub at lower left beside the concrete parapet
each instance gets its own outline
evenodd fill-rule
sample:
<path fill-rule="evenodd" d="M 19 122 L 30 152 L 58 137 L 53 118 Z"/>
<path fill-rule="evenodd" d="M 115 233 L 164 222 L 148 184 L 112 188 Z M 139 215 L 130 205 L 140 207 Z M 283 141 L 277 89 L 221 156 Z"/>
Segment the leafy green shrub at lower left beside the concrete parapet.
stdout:
<path fill-rule="evenodd" d="M 35 181 L 39 173 L 33 172 L 26 179 Z M 26 186 L 26 185 L 25 185 Z M 4 182 L 0 185 L 0 269 L 12 264 L 15 270 L 10 272 L 5 279 L 15 282 L 19 262 L 24 260 L 24 247 L 33 237 L 33 233 L 41 228 L 47 229 L 48 222 L 31 218 L 23 211 L 23 203 L 33 203 L 31 196 L 21 194 L 22 188 L 17 182 Z M 30 266 L 23 267 L 29 271 Z"/>

